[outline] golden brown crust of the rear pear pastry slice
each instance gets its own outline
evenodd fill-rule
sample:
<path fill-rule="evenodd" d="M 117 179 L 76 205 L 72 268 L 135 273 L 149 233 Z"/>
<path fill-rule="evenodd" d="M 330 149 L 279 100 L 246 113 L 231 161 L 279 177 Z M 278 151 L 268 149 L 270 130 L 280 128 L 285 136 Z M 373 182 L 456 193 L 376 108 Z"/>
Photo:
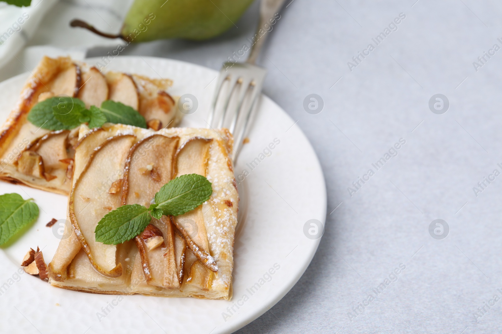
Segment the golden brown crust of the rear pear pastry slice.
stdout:
<path fill-rule="evenodd" d="M 96 72 L 97 70 L 85 63 L 73 61 L 69 57 L 42 58 L 23 87 L 18 104 L 0 128 L 0 180 L 20 182 L 33 188 L 64 195 L 69 193 L 72 185 L 71 174 L 66 173 L 64 164 L 61 164 L 59 168 L 54 168 L 54 172 L 48 172 L 45 177 L 36 177 L 20 173 L 16 166 L 16 160 L 23 150 L 50 132 L 27 120 L 31 108 L 39 102 L 39 96 L 43 93 L 46 98 L 62 93 L 72 97 L 81 97 L 79 92 L 82 93 L 87 82 L 82 81 L 82 78 L 87 78 L 89 71 Z M 108 77 L 114 78 L 116 75 L 121 75 L 118 72 L 108 72 L 108 74 L 109 76 L 103 76 L 103 80 L 106 80 L 108 86 L 112 85 L 112 80 L 108 80 Z M 162 127 L 173 127 L 179 123 L 182 114 L 176 108 L 175 99 L 165 92 L 172 85 L 172 81 L 149 79 L 139 75 L 130 75 L 129 77 L 132 78 L 137 87 L 139 101 L 137 108 L 141 107 L 139 112 L 146 116 L 147 122 L 153 121 L 150 124 L 162 125 Z M 68 87 L 66 83 L 70 83 L 74 87 Z M 56 92 L 52 92 L 52 90 L 56 90 Z M 108 95 L 108 92 L 105 95 Z M 148 117 L 155 117 L 155 119 Z M 68 140 L 68 158 L 73 158 L 71 144 L 71 140 Z M 67 174 L 70 175 L 69 178 L 66 177 Z"/>

